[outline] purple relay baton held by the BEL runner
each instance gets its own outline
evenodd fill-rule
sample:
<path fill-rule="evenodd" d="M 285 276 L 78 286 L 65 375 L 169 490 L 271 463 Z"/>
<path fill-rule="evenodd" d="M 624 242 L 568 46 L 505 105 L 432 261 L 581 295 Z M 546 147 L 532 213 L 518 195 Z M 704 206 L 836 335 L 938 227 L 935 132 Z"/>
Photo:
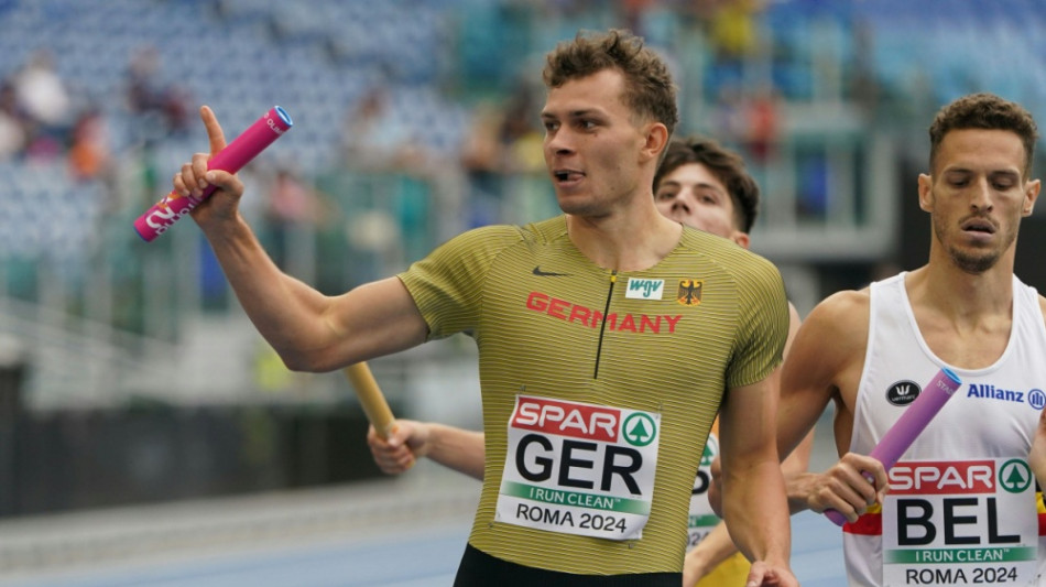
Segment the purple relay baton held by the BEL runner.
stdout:
<path fill-rule="evenodd" d="M 937 371 L 937 374 L 934 376 L 934 379 L 929 380 L 929 383 L 923 389 L 919 396 L 901 414 L 901 417 L 894 422 L 893 426 L 890 426 L 890 430 L 887 430 L 886 434 L 879 441 L 875 448 L 872 448 L 869 456 L 882 463 L 883 467 L 890 470 L 891 467 L 897 464 L 901 455 L 912 446 L 915 438 L 923 433 L 923 430 L 929 424 L 929 421 L 934 420 L 937 412 L 940 412 L 940 409 L 945 406 L 945 403 L 951 399 L 961 384 L 962 380 L 950 369 L 945 368 Z M 863 475 L 869 482 L 873 481 L 872 476 L 868 472 L 862 472 L 861 475 Z M 841 526 L 847 523 L 846 517 L 839 513 L 838 510 L 827 509 L 825 510 L 825 515 L 835 522 L 836 525 Z"/>

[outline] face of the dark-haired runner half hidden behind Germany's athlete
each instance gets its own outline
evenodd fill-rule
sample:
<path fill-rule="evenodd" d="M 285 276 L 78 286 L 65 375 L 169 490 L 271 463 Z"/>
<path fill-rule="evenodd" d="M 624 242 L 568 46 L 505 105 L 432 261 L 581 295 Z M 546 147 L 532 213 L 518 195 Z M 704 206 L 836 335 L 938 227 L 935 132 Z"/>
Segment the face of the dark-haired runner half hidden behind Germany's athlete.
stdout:
<path fill-rule="evenodd" d="M 748 235 L 734 221 L 733 198 L 700 163 L 679 165 L 662 177 L 654 203 L 667 218 L 748 247 Z"/>

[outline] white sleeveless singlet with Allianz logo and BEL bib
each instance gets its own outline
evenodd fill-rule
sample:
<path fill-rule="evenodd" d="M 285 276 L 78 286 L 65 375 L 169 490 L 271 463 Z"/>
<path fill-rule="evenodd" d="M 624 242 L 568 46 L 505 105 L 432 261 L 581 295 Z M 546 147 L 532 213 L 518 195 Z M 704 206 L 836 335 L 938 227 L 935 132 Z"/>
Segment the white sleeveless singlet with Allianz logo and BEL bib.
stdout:
<path fill-rule="evenodd" d="M 940 368 L 962 384 L 889 471 L 883 507 L 843 528 L 850 585 L 1044 585 L 1046 510 L 1027 465 L 1046 404 L 1038 294 L 1014 276 L 1006 349 L 969 370 L 927 347 L 904 278 L 871 285 L 850 450 L 871 453 Z"/>

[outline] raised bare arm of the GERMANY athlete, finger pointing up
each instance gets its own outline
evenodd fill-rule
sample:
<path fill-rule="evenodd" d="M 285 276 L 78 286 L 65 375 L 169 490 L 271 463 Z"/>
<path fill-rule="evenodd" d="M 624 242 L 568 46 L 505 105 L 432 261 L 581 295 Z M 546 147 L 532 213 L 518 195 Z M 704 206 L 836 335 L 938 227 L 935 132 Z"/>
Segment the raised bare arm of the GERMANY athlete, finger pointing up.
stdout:
<path fill-rule="evenodd" d="M 214 112 L 200 109 L 210 151 L 226 145 Z M 329 371 L 421 344 L 427 325 L 397 279 L 327 296 L 283 272 L 269 259 L 238 211 L 243 184 L 237 176 L 207 171 L 207 153 L 196 153 L 174 177 L 187 195 L 208 184 L 218 189 L 195 210 L 200 226 L 251 322 L 291 369 Z"/>

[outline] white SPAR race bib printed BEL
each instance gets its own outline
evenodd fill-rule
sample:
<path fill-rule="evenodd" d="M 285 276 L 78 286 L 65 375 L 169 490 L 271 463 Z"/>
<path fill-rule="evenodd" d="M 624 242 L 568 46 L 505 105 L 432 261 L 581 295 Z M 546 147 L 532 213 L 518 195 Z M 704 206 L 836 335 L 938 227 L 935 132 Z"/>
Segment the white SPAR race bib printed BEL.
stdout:
<path fill-rule="evenodd" d="M 906 461 L 883 502 L 883 580 L 1033 585 L 1035 478 L 1024 459 Z"/>

